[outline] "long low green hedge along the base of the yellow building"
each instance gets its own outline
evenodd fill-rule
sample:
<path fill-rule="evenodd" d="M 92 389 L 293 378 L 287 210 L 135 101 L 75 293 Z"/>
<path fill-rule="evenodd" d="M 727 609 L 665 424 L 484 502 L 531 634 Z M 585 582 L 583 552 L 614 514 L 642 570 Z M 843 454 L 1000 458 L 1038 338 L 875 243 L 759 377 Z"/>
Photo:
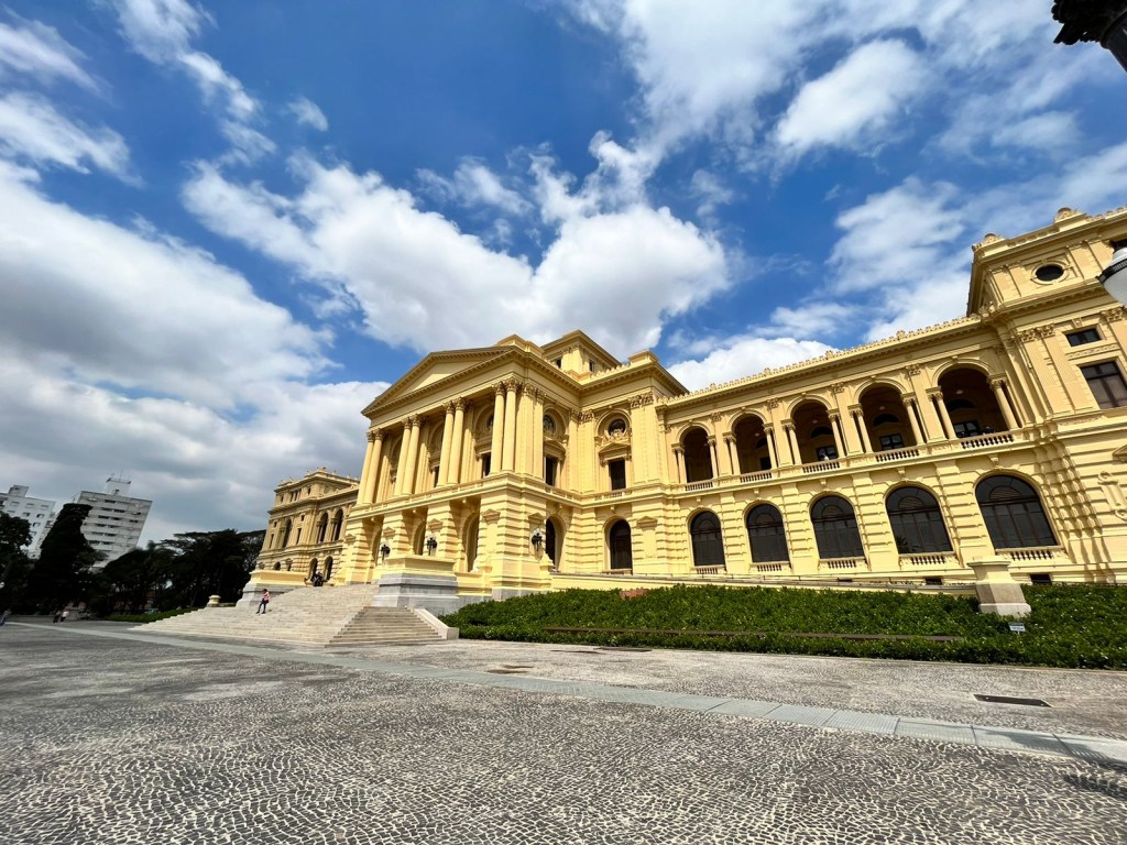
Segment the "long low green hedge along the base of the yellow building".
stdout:
<path fill-rule="evenodd" d="M 614 590 L 565 590 L 469 605 L 443 621 L 467 639 L 1127 669 L 1127 589 L 1026 587 L 1026 596 L 1032 614 L 1023 620 L 1023 634 L 1011 632 L 1009 620 L 978 613 L 973 598 L 762 587 L 673 587 L 629 599 Z M 549 628 L 630 631 L 561 633 Z M 708 637 L 704 631 L 748 633 Z M 793 633 L 962 639 L 788 635 Z"/>

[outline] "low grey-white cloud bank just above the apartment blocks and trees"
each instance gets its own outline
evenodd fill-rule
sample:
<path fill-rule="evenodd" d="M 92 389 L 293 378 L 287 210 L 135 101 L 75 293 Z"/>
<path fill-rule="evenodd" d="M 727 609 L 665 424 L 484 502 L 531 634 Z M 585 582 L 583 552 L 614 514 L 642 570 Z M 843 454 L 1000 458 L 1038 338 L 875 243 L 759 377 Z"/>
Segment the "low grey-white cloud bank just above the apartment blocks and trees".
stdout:
<path fill-rule="evenodd" d="M 230 419 L 196 402 L 124 397 L 15 356 L 0 358 L 0 383 L 8 478 L 61 504 L 124 470 L 132 493 L 153 500 L 143 540 L 261 528 L 281 479 L 316 466 L 358 473 L 366 426 L 358 409 L 388 386 L 259 383 L 252 412 Z"/>

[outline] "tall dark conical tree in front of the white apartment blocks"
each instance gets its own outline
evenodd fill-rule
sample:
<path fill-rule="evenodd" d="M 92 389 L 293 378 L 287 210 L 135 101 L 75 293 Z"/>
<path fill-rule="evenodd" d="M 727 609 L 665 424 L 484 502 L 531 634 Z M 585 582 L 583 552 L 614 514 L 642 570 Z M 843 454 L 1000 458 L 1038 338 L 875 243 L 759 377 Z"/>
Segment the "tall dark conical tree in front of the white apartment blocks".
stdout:
<path fill-rule="evenodd" d="M 39 610 L 53 611 L 85 597 L 90 586 L 90 568 L 100 555 L 82 536 L 82 522 L 89 505 L 63 505 L 55 524 L 39 548 L 27 578 L 27 602 Z"/>

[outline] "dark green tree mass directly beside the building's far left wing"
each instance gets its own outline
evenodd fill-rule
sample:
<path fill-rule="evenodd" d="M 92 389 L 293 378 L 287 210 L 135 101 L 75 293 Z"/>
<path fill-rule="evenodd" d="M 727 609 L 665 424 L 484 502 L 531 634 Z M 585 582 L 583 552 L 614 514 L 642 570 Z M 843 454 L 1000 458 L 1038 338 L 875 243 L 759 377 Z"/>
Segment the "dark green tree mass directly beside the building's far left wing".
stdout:
<path fill-rule="evenodd" d="M 172 587 L 166 604 L 198 607 L 208 596 L 233 602 L 242 594 L 263 546 L 263 531 L 233 528 L 177 534 L 161 545 L 172 555 Z"/>

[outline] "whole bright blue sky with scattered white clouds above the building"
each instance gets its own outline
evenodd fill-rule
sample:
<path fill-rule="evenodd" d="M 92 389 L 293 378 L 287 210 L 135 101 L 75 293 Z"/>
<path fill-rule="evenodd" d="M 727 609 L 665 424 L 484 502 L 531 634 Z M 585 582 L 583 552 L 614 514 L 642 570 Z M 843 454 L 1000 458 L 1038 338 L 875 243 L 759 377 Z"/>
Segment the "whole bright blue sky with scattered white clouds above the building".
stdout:
<path fill-rule="evenodd" d="M 1127 201 L 1127 77 L 1049 7 L 9 0 L 0 484 L 260 527 L 429 350 L 702 386 L 957 317 L 983 233 Z"/>

